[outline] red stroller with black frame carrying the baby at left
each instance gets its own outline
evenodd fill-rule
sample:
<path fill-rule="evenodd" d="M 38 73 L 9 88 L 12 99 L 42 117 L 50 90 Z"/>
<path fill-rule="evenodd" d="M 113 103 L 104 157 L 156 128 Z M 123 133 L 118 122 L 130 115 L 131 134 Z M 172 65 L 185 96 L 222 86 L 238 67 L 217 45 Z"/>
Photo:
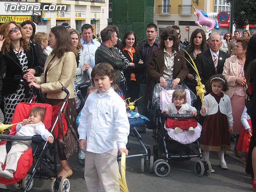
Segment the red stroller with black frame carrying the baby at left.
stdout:
<path fill-rule="evenodd" d="M 19 103 L 16 108 L 12 118 L 12 123 L 21 122 L 24 118 L 28 118 L 30 110 L 35 106 L 40 106 L 46 109 L 44 114 L 44 125 L 49 132 L 52 132 L 54 138 L 58 137 L 58 111 L 66 108 L 66 104 L 69 97 L 69 92 L 66 88 L 62 87 L 62 90 L 67 93 L 66 98 L 64 98 L 64 102 L 62 107 L 51 106 L 49 104 L 42 103 Z M 63 129 L 64 133 L 67 131 L 66 121 L 64 118 L 64 113 L 62 112 L 62 121 L 63 121 Z M 56 128 L 55 128 L 56 127 Z M 18 141 L 18 140 L 32 140 L 32 147 L 29 148 L 24 154 L 20 156 L 20 159 L 17 164 L 17 170 L 14 172 L 13 179 L 7 179 L 4 177 L 0 177 L 0 183 L 2 184 L 14 184 L 14 188 L 16 189 L 24 189 L 24 192 L 30 190 L 33 185 L 33 178 L 41 179 L 52 179 L 51 182 L 51 192 L 57 192 L 60 189 L 60 192 L 68 192 L 70 189 L 70 182 L 67 178 L 63 179 L 58 177 L 57 170 L 57 158 L 56 158 L 56 145 L 55 139 L 53 145 L 50 145 L 48 142 L 45 142 L 40 135 L 35 136 L 15 136 L 16 126 L 12 126 L 12 132 L 10 135 L 0 135 L 0 139 L 4 140 L 0 142 L 3 144 L 6 141 Z M 62 133 L 60 132 L 59 137 L 62 137 Z M 10 143 L 11 144 L 11 143 Z M 6 145 L 7 146 L 7 145 Z M 46 154 L 47 149 L 49 148 L 50 155 Z M 50 158 L 53 156 L 53 160 Z M 34 167 L 32 172 L 29 172 L 31 165 L 34 159 Z M 45 172 L 42 170 L 41 165 L 46 166 L 50 172 Z M 5 164 L 2 166 L 5 168 Z M 6 190 L 0 188 L 0 192 L 2 191 L 14 191 L 14 190 Z"/>

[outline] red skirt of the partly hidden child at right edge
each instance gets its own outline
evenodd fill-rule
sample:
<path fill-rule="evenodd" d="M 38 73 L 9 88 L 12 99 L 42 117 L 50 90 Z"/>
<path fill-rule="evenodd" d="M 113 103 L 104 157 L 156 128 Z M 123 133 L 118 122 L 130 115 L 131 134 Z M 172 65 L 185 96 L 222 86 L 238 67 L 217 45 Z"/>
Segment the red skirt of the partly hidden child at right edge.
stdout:
<path fill-rule="evenodd" d="M 252 123 L 251 123 L 250 119 L 248 120 L 248 123 L 249 123 L 250 127 L 252 127 Z M 250 145 L 250 139 L 251 139 L 250 134 L 248 134 L 246 132 L 246 130 L 244 129 L 244 126 L 243 126 L 242 130 L 240 132 L 240 136 L 239 136 L 239 139 L 238 139 L 236 150 L 241 150 L 242 152 L 248 153 L 249 145 Z"/>

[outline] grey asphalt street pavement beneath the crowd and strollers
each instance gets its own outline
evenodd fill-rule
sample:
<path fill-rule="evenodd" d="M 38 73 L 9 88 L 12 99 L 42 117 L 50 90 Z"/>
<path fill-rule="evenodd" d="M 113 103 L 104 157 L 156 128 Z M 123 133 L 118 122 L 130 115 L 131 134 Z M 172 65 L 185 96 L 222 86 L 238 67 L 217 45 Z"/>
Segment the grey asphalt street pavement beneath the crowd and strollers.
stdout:
<path fill-rule="evenodd" d="M 142 142 L 148 147 L 154 145 L 152 130 L 142 133 Z M 128 158 L 126 160 L 126 181 L 130 192 L 245 192 L 253 191 L 250 184 L 250 177 L 246 176 L 245 158 L 239 159 L 234 154 L 234 142 L 231 142 L 233 148 L 227 152 L 225 160 L 228 170 L 223 170 L 218 165 L 218 155 L 216 152 L 210 152 L 210 162 L 215 173 L 210 176 L 198 177 L 195 174 L 195 162 L 199 158 L 176 162 L 169 161 L 170 174 L 166 177 L 158 177 L 150 173 L 145 168 L 144 173 L 140 173 L 140 158 Z M 143 153 L 143 149 L 134 137 L 129 140 L 129 154 Z M 86 184 L 83 178 L 84 168 L 78 164 L 76 154 L 69 160 L 74 174 L 69 178 L 70 192 L 87 192 Z M 31 192 L 49 192 L 51 180 L 34 179 Z M 13 185 L 5 186 L 0 184 L 1 188 L 14 189 Z M 22 191 L 22 190 L 21 190 Z"/>

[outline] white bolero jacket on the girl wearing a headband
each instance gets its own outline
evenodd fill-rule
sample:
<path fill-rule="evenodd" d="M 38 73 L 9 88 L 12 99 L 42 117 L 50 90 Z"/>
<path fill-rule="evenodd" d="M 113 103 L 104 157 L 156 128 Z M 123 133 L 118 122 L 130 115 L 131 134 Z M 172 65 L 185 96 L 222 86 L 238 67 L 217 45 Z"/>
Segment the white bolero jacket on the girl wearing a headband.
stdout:
<path fill-rule="evenodd" d="M 232 127 L 233 116 L 232 116 L 231 101 L 230 101 L 230 98 L 225 94 L 220 99 L 219 104 L 211 94 L 206 95 L 204 97 L 204 108 L 206 109 L 206 113 L 203 114 L 200 110 L 200 114 L 202 116 L 216 114 L 218 112 L 218 106 L 220 107 L 220 112 L 228 117 L 228 124 L 230 127 Z"/>

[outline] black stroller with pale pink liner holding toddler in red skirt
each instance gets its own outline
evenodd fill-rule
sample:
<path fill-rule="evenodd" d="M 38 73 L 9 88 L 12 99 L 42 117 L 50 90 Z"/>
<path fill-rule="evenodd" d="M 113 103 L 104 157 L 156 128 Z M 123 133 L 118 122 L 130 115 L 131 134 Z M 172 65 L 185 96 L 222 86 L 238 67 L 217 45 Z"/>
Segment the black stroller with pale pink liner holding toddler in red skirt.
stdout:
<path fill-rule="evenodd" d="M 189 88 L 185 84 L 178 85 L 175 89 L 172 88 L 172 79 L 166 80 L 167 83 L 167 92 L 168 90 L 176 90 L 183 89 L 186 90 L 187 101 L 190 100 L 191 104 L 196 100 L 195 94 L 189 90 Z M 153 153 L 149 150 L 150 160 L 151 158 L 156 158 L 157 160 L 153 165 L 150 164 L 150 172 L 155 172 L 157 176 L 164 177 L 167 176 L 170 172 L 170 165 L 168 160 L 190 160 L 193 157 L 200 158 L 195 164 L 195 172 L 197 176 L 202 175 L 210 175 L 212 166 L 209 161 L 202 161 L 202 152 L 200 149 L 200 145 L 198 142 L 198 138 L 200 137 L 200 132 L 202 130 L 202 126 L 198 124 L 198 137 L 194 140 L 190 140 L 190 142 L 182 142 L 181 140 L 177 140 L 174 135 L 171 135 L 170 132 L 167 131 L 165 127 L 165 120 L 167 117 L 171 118 L 192 118 L 192 114 L 162 114 L 160 105 L 164 104 L 161 101 L 160 103 L 160 92 L 164 90 L 160 86 L 160 84 L 155 84 L 152 88 L 152 94 L 150 98 L 150 104 L 148 109 L 148 114 L 150 116 L 151 127 L 153 127 L 153 138 L 155 140 L 155 145 L 153 146 Z M 164 90 L 164 92 L 166 92 Z M 188 96 L 190 94 L 190 98 Z M 161 93 L 162 95 L 162 93 Z M 164 94 L 163 94 L 164 95 Z M 168 103 L 167 103 L 168 104 Z M 153 124 L 153 126 L 152 126 Z M 172 129 L 173 130 L 173 129 Z M 196 129 L 195 129 L 196 130 Z M 192 143 L 196 144 L 197 151 L 195 152 L 192 148 Z M 154 157 L 152 157 L 154 154 Z M 162 159 L 162 154 L 165 155 L 166 160 Z"/>

